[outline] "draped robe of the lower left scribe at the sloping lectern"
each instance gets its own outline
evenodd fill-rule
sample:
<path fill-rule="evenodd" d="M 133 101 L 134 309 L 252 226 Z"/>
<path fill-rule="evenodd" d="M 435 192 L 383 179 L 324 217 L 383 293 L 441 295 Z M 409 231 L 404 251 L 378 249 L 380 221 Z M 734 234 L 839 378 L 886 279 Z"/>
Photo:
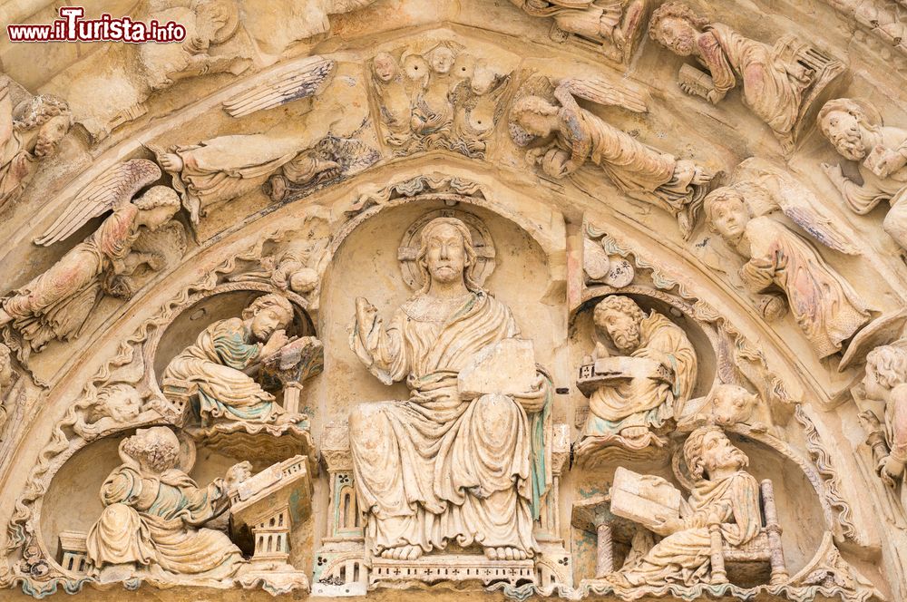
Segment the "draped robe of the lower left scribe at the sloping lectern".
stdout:
<path fill-rule="evenodd" d="M 88 533 L 95 567 L 134 564 L 180 575 L 232 577 L 245 562 L 225 533 L 200 529 L 229 505 L 222 479 L 200 489 L 183 471 L 142 473 L 123 464 L 101 490 L 104 510 Z"/>

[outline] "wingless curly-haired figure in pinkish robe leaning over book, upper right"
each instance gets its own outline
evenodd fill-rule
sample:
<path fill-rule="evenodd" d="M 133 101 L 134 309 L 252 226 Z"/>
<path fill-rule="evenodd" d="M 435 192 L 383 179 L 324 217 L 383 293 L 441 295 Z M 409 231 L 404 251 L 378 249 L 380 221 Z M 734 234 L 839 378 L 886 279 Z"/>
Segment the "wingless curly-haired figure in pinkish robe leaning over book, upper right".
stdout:
<path fill-rule="evenodd" d="M 679 56 L 692 56 L 708 70 L 685 65 L 680 88 L 712 104 L 737 82 L 746 107 L 775 133 L 782 151 L 794 150 L 796 128 L 806 104 L 844 65 L 787 35 L 773 46 L 737 34 L 726 24 L 709 23 L 680 2 L 658 7 L 649 20 L 653 40 Z"/>

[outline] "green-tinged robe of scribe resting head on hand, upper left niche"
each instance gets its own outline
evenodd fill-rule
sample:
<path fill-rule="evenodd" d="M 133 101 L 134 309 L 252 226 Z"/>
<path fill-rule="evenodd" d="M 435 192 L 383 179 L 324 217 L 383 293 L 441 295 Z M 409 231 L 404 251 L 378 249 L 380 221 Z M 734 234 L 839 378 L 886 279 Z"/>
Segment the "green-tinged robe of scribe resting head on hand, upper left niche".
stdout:
<path fill-rule="evenodd" d="M 274 422 L 283 408 L 274 402 L 274 395 L 242 372 L 258 359 L 261 346 L 238 317 L 220 320 L 171 360 L 163 384 L 172 379 L 198 384 L 203 419 Z"/>

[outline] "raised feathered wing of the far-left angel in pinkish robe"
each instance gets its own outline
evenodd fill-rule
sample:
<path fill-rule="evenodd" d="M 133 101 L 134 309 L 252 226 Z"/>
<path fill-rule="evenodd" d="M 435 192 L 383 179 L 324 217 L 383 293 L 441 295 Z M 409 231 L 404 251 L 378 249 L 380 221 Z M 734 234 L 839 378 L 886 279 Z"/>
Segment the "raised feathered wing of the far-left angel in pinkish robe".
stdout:
<path fill-rule="evenodd" d="M 147 159 L 117 163 L 76 195 L 54 225 L 34 239 L 34 244 L 49 247 L 68 238 L 85 222 L 105 211 L 128 203 L 136 192 L 161 179 L 161 168 Z"/>

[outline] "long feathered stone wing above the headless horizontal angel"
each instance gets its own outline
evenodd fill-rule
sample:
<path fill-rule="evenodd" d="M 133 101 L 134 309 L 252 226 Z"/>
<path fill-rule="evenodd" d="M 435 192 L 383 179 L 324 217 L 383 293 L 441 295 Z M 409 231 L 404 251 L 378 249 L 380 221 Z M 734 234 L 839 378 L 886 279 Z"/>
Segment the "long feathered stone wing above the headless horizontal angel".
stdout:
<path fill-rule="evenodd" d="M 328 77 L 334 73 L 336 62 L 320 56 L 312 56 L 284 73 L 279 73 L 251 90 L 242 92 L 224 102 L 224 111 L 230 117 L 242 117 L 256 111 L 273 109 L 281 104 L 307 96 L 314 96 L 324 87 Z"/>

